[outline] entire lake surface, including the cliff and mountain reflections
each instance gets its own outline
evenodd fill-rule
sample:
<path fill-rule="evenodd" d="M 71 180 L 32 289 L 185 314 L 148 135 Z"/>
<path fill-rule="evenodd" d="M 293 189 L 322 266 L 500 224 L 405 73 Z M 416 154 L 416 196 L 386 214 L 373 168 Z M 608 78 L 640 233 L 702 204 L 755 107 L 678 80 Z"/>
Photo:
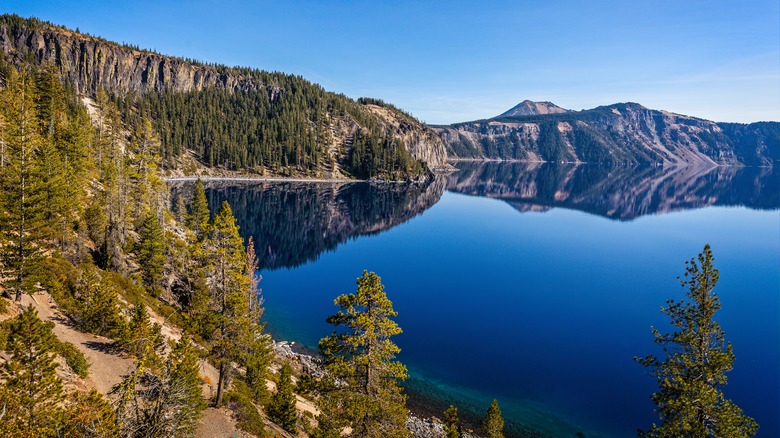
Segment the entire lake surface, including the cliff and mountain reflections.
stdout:
<path fill-rule="evenodd" d="M 461 163 L 426 186 L 211 184 L 263 268 L 267 327 L 316 347 L 333 299 L 382 277 L 410 403 L 501 405 L 510 436 L 636 436 L 657 417 L 634 356 L 712 246 L 734 345 L 728 398 L 780 436 L 780 175 L 770 169 Z"/>

